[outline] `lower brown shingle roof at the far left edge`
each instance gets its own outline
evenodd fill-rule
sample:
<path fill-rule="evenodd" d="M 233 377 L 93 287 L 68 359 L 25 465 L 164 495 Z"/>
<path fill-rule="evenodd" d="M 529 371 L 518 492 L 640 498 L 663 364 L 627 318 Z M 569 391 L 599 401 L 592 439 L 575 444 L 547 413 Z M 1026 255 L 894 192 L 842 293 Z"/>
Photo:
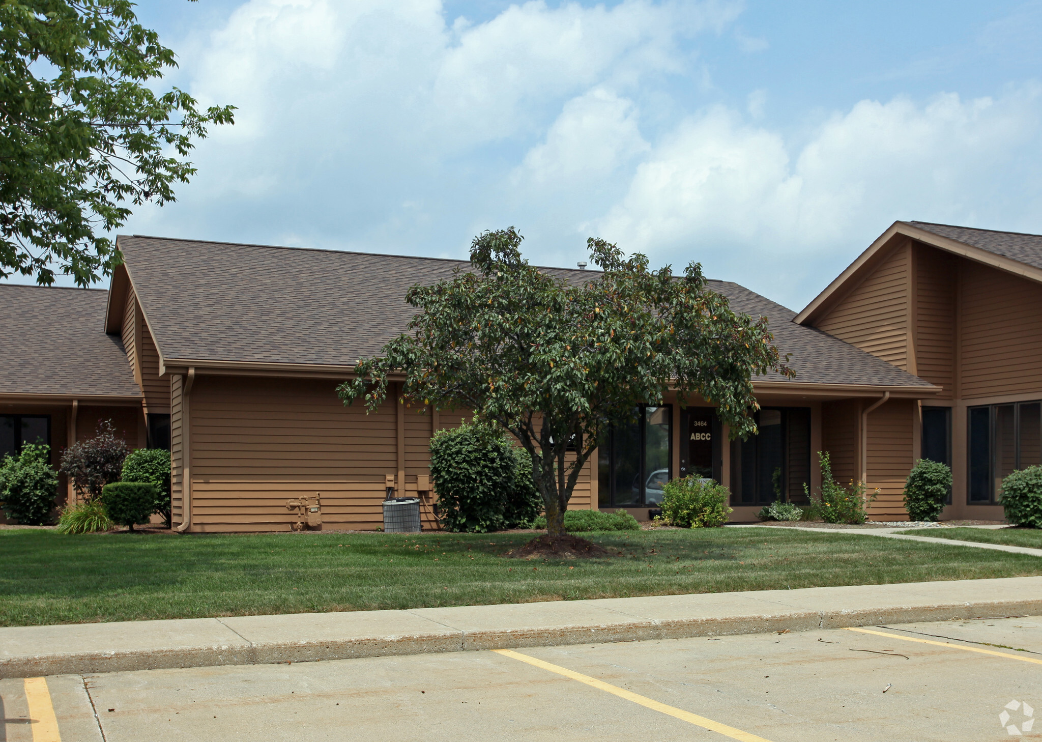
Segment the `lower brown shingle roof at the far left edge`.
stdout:
<path fill-rule="evenodd" d="M 107 291 L 0 283 L 0 393 L 140 397 Z"/>

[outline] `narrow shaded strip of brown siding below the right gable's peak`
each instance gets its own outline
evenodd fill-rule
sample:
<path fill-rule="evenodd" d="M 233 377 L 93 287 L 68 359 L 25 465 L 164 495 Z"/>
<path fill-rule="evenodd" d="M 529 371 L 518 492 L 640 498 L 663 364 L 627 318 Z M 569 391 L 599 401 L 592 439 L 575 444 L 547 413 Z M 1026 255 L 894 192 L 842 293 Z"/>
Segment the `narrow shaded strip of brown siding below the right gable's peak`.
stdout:
<path fill-rule="evenodd" d="M 959 258 L 926 245 L 915 246 L 915 351 L 920 378 L 944 389 L 937 399 L 951 399 L 954 384 L 956 274 Z"/>

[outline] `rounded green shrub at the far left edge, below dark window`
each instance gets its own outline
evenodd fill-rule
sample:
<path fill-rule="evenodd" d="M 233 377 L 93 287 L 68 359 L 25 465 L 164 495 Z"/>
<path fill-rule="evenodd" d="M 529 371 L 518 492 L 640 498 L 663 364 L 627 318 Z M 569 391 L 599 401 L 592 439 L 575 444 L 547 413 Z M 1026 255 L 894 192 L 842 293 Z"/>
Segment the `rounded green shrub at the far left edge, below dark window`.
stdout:
<path fill-rule="evenodd" d="M 50 520 L 58 494 L 58 475 L 48 463 L 49 446 L 26 443 L 17 456 L 0 462 L 0 504 L 4 515 L 22 525 Z"/>

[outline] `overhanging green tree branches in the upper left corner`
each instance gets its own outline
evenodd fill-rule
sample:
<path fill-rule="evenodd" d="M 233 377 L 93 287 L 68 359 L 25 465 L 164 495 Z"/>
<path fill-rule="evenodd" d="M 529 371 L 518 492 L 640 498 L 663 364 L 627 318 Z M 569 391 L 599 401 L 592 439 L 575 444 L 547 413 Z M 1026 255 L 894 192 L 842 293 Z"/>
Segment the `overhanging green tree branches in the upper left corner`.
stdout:
<path fill-rule="evenodd" d="M 233 106 L 152 86 L 174 52 L 129 0 L 0 2 L 0 277 L 90 286 L 119 265 L 127 204 L 174 200 L 184 158 Z"/>

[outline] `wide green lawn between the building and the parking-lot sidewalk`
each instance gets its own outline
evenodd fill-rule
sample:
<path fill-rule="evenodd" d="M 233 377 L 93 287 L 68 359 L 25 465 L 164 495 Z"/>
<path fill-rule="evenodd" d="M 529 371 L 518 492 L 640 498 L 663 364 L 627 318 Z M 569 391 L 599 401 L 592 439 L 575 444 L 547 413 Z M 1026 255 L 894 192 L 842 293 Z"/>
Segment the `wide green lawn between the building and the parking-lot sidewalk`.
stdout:
<path fill-rule="evenodd" d="M 0 531 L 0 624 L 475 605 L 1042 574 L 1038 558 L 786 528 L 588 534 L 621 556 L 525 562 L 526 534 Z"/>

